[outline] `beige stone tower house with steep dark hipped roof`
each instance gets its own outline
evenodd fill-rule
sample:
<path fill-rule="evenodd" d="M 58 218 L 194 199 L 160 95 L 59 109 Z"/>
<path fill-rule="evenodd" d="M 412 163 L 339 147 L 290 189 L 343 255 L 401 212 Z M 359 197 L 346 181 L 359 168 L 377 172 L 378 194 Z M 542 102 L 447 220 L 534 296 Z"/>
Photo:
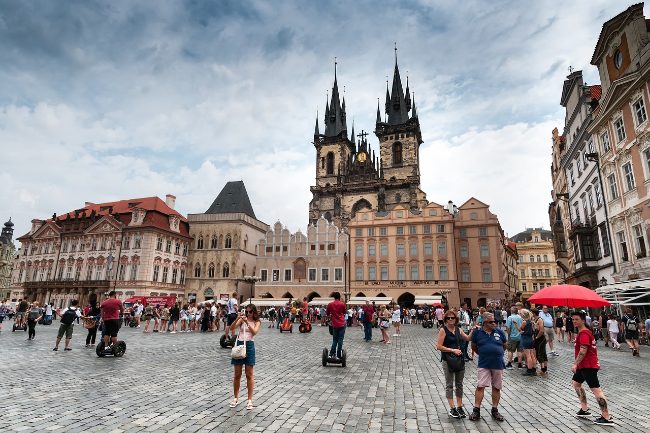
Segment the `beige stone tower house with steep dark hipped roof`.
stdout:
<path fill-rule="evenodd" d="M 190 213 L 187 220 L 192 237 L 188 300 L 229 298 L 235 292 L 240 300 L 248 298 L 244 276 L 257 274 L 257 242 L 268 224 L 255 217 L 244 182 L 226 183 L 205 213 Z"/>

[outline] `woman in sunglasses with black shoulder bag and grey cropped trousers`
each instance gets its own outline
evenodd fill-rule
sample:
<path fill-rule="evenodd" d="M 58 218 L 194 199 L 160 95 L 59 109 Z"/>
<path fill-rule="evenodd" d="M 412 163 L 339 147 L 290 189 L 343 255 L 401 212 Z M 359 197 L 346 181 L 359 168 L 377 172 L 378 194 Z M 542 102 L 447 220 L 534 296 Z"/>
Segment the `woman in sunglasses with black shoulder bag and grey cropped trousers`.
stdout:
<path fill-rule="evenodd" d="M 443 373 L 445 373 L 445 397 L 449 404 L 449 416 L 454 418 L 465 418 L 467 415 L 463 410 L 463 378 L 465 377 L 465 358 L 463 358 L 463 349 L 460 347 L 461 341 L 469 341 L 474 329 L 465 334 L 458 326 L 460 317 L 455 311 L 447 311 L 443 316 L 445 326 L 440 328 L 435 348 L 440 350 L 440 361 L 443 364 Z M 448 354 L 460 356 L 463 361 L 463 368 L 459 371 L 451 371 L 447 363 Z M 454 389 L 456 391 L 456 404 L 454 404 Z"/>

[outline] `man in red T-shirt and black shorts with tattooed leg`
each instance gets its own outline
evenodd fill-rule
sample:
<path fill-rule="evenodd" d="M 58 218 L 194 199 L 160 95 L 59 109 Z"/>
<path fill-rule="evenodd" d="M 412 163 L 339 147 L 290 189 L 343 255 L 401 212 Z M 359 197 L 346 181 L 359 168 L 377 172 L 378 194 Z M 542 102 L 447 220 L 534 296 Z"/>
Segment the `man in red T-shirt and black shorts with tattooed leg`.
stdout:
<path fill-rule="evenodd" d="M 613 425 L 614 419 L 610 416 L 607 408 L 607 399 L 601 391 L 601 384 L 598 382 L 598 370 L 601 368 L 601 363 L 598 360 L 596 353 L 596 339 L 591 334 L 591 330 L 586 326 L 586 315 L 582 311 L 573 311 L 571 313 L 571 320 L 573 326 L 578 329 L 578 334 L 575 337 L 575 362 L 571 366 L 573 372 L 573 387 L 580 399 L 580 410 L 576 415 L 578 417 L 590 417 L 591 412 L 587 405 L 587 395 L 582 387 L 583 382 L 587 382 L 587 386 L 591 389 L 593 396 L 601 410 L 603 416 L 593 421 L 594 424 L 599 425 Z"/>

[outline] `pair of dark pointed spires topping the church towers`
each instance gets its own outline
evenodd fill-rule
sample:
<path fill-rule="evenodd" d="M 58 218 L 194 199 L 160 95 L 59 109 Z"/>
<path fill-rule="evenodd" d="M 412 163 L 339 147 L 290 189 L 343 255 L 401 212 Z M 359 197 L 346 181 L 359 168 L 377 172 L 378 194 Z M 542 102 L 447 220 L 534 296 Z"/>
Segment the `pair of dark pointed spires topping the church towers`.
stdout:
<path fill-rule="evenodd" d="M 347 121 L 345 112 L 345 92 L 343 93 L 343 103 L 339 101 L 339 85 L 337 83 L 336 65 L 334 61 L 334 85 L 332 86 L 332 94 L 330 101 L 326 101 L 325 107 L 325 137 L 335 137 L 342 131 L 347 131 Z M 377 101 L 377 124 L 383 124 L 382 115 L 379 109 L 379 101 Z M 395 72 L 393 73 L 393 88 L 391 91 L 388 89 L 388 81 L 386 81 L 386 102 L 385 113 L 387 116 L 387 124 L 400 125 L 406 124 L 409 120 L 409 111 L 413 109 L 411 118 L 417 117 L 415 109 L 415 101 L 411 104 L 411 95 L 408 88 L 408 76 L 406 77 L 406 92 L 402 88 L 402 79 L 400 78 L 400 71 L 397 66 L 397 47 L 395 47 Z M 320 135 L 318 128 L 318 112 L 316 114 L 316 127 L 314 135 Z M 354 133 L 352 134 L 354 142 Z"/>

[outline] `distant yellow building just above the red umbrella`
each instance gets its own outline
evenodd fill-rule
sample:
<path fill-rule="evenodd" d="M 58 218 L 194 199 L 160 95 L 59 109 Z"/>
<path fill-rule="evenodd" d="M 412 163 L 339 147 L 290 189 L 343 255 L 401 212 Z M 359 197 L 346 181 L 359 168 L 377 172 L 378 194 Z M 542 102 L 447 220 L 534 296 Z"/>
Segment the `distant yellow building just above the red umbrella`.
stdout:
<path fill-rule="evenodd" d="M 556 263 L 552 231 L 526 229 L 512 241 L 519 253 L 519 297 L 523 302 L 544 287 L 560 284 L 562 270 Z"/>

